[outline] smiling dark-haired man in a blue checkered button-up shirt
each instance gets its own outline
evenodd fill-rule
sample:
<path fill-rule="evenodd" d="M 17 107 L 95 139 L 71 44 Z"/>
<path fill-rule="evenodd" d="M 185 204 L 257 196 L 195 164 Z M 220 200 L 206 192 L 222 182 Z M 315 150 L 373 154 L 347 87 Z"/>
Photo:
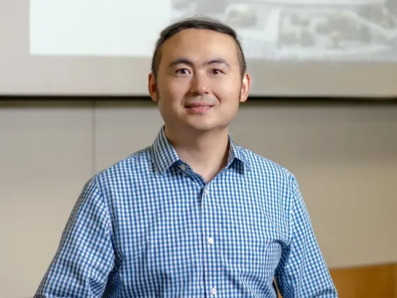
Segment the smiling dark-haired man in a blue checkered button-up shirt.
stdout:
<path fill-rule="evenodd" d="M 229 135 L 250 85 L 233 29 L 164 29 L 164 127 L 87 182 L 35 297 L 337 297 L 294 176 Z"/>

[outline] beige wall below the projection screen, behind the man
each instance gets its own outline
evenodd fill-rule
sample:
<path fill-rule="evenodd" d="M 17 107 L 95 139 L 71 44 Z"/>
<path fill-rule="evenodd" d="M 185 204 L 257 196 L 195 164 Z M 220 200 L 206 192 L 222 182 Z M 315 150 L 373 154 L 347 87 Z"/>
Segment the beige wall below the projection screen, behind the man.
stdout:
<path fill-rule="evenodd" d="M 31 297 L 85 181 L 161 124 L 145 104 L 0 104 L 0 298 Z M 397 262 L 397 106 L 245 104 L 231 132 L 296 175 L 329 267 Z"/>

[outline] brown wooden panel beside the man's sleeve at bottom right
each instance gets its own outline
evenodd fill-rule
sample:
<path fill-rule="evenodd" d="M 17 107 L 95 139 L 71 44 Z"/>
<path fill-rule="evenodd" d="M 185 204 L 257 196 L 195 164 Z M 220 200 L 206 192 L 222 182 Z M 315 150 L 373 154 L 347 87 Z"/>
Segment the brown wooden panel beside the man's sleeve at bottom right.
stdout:
<path fill-rule="evenodd" d="M 330 272 L 339 298 L 397 298 L 397 264 L 333 269 Z"/>

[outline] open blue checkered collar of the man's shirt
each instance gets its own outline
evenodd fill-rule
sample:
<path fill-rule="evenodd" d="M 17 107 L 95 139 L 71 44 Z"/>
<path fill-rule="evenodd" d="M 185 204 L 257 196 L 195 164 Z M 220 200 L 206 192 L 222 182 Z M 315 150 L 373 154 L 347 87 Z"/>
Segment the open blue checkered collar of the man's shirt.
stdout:
<path fill-rule="evenodd" d="M 152 144 L 152 155 L 154 166 L 157 171 L 162 174 L 167 171 L 173 164 L 182 162 L 175 148 L 171 145 L 170 141 L 166 137 L 165 126 L 161 127 L 159 134 L 157 134 L 154 143 Z M 240 162 L 243 164 L 245 169 L 250 169 L 247 156 L 243 148 L 240 148 L 233 142 L 231 135 L 229 134 L 229 157 L 226 167 L 232 166 L 233 162 Z"/>

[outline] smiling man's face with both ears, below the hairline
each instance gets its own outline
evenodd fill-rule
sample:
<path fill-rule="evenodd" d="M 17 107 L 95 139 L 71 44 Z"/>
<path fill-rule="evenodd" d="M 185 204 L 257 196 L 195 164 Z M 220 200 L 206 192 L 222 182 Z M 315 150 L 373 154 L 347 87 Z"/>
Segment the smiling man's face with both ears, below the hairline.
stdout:
<path fill-rule="evenodd" d="M 250 92 L 250 76 L 241 78 L 238 47 L 231 36 L 185 29 L 161 48 L 157 78 L 149 92 L 168 129 L 208 132 L 225 129 Z"/>

